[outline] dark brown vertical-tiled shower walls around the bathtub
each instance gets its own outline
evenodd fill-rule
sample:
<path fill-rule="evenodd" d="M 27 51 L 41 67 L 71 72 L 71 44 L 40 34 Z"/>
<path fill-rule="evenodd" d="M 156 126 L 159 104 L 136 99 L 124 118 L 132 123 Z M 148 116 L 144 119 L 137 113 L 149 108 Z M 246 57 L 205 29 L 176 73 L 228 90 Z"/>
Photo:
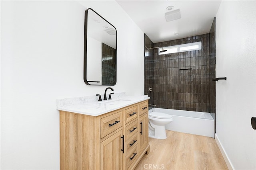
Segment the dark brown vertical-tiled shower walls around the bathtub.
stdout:
<path fill-rule="evenodd" d="M 145 47 L 145 94 L 151 97 L 150 104 L 215 113 L 215 19 L 212 25 L 207 34 L 154 44 L 145 35 L 148 48 L 202 41 L 201 50 L 166 55 Z"/>

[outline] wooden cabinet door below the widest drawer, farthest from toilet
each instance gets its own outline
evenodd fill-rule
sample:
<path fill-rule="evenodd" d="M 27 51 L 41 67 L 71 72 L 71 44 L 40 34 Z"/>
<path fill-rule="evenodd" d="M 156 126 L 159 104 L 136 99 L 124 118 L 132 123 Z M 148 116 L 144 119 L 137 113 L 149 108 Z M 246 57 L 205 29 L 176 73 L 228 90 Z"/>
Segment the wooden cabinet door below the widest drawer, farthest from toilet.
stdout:
<path fill-rule="evenodd" d="M 101 169 L 120 170 L 123 169 L 124 138 L 122 130 L 118 131 L 100 144 Z"/>

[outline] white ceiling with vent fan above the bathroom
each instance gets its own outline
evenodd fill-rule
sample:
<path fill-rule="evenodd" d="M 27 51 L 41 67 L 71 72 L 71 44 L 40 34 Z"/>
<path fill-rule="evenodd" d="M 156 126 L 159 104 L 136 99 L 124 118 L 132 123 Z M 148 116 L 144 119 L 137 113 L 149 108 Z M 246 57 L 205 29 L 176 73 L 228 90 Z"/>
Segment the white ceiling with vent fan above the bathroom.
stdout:
<path fill-rule="evenodd" d="M 116 0 L 153 43 L 209 33 L 221 0 Z M 166 8 L 181 18 L 166 22 Z M 174 33 L 179 35 L 174 35 Z"/>

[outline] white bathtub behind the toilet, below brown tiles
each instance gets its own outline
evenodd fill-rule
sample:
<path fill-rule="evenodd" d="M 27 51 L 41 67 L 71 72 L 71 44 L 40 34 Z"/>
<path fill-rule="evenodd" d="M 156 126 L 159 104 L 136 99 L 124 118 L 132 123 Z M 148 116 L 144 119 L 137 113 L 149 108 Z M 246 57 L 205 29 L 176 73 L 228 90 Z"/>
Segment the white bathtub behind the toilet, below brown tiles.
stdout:
<path fill-rule="evenodd" d="M 173 121 L 165 125 L 166 130 L 214 138 L 215 123 L 210 113 L 160 108 L 152 108 L 151 111 L 172 115 Z"/>

